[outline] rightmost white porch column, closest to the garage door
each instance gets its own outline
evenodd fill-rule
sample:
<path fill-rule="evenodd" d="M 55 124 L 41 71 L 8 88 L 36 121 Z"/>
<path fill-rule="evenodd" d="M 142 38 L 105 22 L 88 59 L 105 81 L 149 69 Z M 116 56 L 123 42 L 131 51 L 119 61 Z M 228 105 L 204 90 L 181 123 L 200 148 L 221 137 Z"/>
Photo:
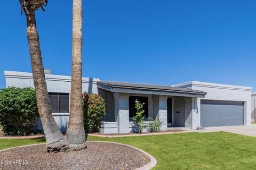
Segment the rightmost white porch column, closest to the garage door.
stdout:
<path fill-rule="evenodd" d="M 196 129 L 200 125 L 197 98 L 185 98 L 185 127 Z"/>

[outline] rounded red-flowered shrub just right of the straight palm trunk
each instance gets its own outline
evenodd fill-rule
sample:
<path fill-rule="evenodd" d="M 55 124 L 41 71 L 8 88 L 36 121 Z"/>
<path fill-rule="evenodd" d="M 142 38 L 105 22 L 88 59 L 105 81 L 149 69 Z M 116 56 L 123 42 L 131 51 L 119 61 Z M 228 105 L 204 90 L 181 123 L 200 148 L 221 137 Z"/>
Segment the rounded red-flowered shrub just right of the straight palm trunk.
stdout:
<path fill-rule="evenodd" d="M 99 132 L 102 118 L 106 115 L 105 100 L 98 94 L 83 94 L 84 130 Z"/>

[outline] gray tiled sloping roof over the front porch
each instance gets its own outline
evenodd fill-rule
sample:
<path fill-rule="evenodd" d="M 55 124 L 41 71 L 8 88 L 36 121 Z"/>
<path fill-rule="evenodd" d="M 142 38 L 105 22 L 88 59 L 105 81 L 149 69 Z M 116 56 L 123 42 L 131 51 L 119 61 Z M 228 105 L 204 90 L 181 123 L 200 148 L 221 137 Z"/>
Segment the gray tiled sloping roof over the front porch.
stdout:
<path fill-rule="evenodd" d="M 124 92 L 134 94 L 170 95 L 187 97 L 204 97 L 206 92 L 180 88 L 174 86 L 162 86 L 158 84 L 127 83 L 114 81 L 98 81 L 98 88 L 112 92 Z"/>

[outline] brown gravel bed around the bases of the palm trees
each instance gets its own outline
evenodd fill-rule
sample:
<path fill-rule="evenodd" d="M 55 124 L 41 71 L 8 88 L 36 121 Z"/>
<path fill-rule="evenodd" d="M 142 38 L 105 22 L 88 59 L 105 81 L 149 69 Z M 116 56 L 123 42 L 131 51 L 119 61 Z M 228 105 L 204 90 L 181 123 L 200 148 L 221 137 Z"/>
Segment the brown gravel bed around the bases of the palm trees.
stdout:
<path fill-rule="evenodd" d="M 87 149 L 49 153 L 45 145 L 0 151 L 0 169 L 135 169 L 150 162 L 137 149 L 107 142 L 87 142 Z"/>

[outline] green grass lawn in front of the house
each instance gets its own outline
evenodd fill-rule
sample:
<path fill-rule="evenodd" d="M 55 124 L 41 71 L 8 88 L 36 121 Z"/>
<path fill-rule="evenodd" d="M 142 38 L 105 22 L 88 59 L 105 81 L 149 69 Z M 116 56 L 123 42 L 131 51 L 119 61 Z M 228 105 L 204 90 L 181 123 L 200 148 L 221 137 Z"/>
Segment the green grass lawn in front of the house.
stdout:
<path fill-rule="evenodd" d="M 181 133 L 143 137 L 95 138 L 125 143 L 145 150 L 157 160 L 154 169 L 255 169 L 256 138 L 227 132 Z M 0 140 L 0 149 L 22 140 Z M 27 144 L 43 142 L 27 140 Z M 25 145 L 23 140 L 20 145 Z"/>

